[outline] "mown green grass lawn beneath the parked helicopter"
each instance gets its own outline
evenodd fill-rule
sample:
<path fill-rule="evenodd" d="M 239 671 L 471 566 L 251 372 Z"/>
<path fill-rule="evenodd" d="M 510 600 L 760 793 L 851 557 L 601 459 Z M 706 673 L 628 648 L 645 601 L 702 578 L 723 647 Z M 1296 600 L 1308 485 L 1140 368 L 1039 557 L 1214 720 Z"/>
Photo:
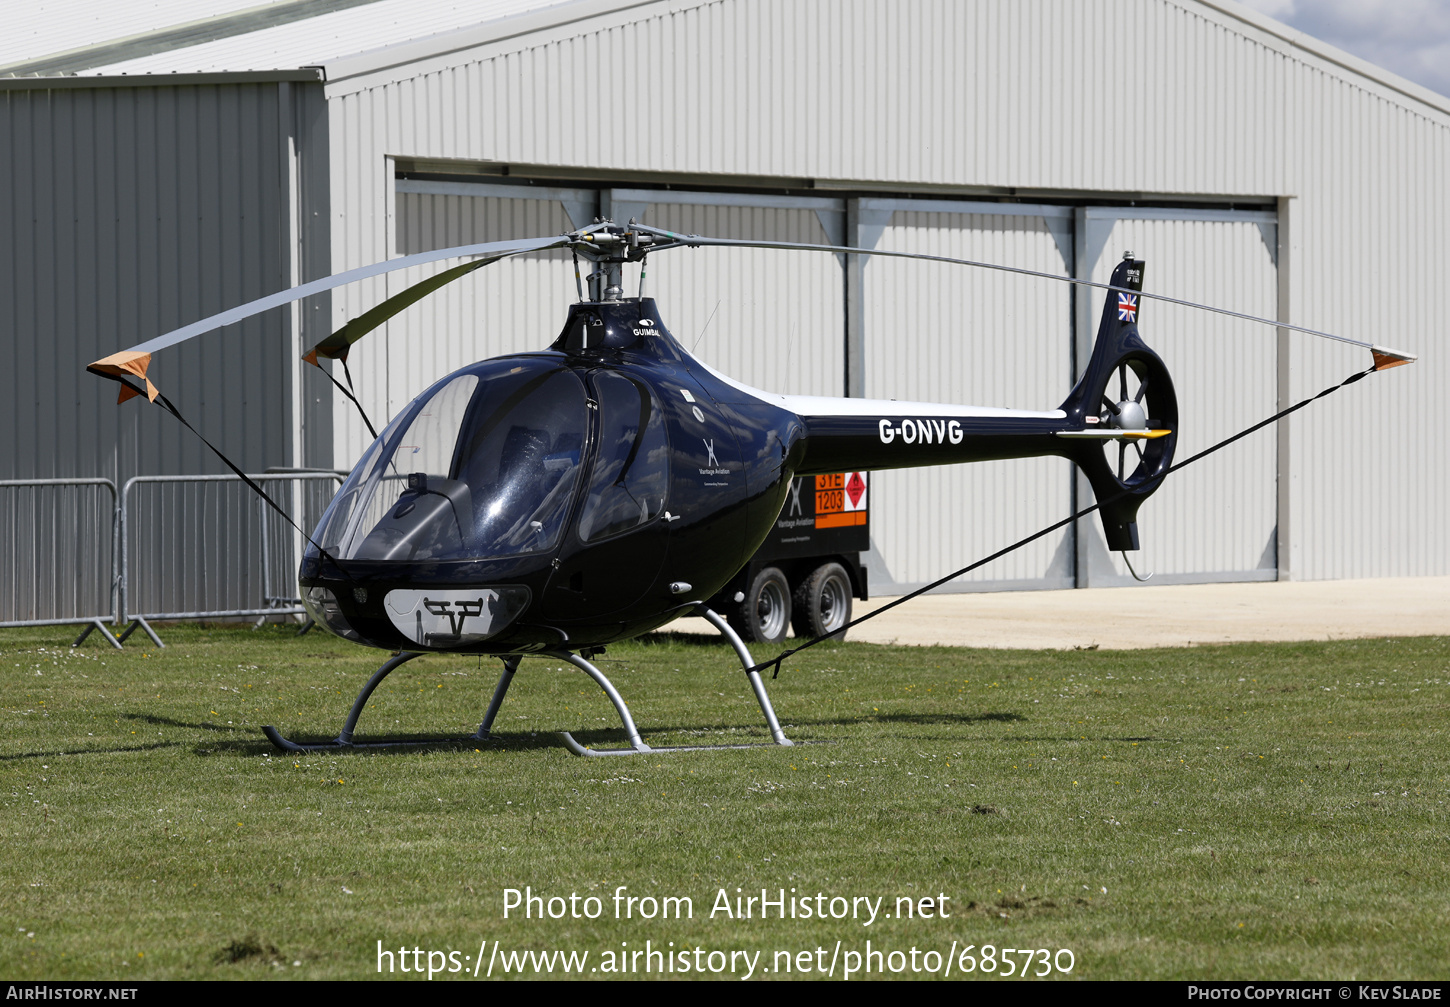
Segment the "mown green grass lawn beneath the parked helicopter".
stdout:
<path fill-rule="evenodd" d="M 667 961 L 687 978 L 741 977 L 757 952 L 755 978 L 786 978 L 777 952 L 790 978 L 832 959 L 840 978 L 851 953 L 871 978 L 929 978 L 912 965 L 942 968 L 953 942 L 951 975 L 967 945 L 977 965 L 986 945 L 1070 949 L 1058 978 L 1450 975 L 1447 638 L 819 646 L 770 683 L 786 733 L 816 744 L 622 759 L 560 746 L 622 731 L 587 678 L 529 659 L 494 743 L 294 759 L 258 727 L 334 734 L 386 654 L 284 627 L 173 627 L 165 650 L 125 652 L 72 633 L 0 631 L 9 979 L 371 978 L 380 940 L 425 977 L 438 952 L 435 979 L 473 978 L 480 946 L 493 978 L 554 950 L 642 974 L 664 961 L 631 962 L 645 942 L 683 949 Z M 722 643 L 657 636 L 599 663 L 652 744 L 767 740 Z M 471 731 L 497 667 L 403 666 L 360 740 Z M 616 918 L 622 885 L 692 913 Z M 525 887 L 577 894 L 579 917 L 505 918 Z M 761 888 L 812 917 L 761 920 Z M 899 898 L 934 900 L 929 918 Z M 866 959 L 867 940 L 900 955 Z"/>

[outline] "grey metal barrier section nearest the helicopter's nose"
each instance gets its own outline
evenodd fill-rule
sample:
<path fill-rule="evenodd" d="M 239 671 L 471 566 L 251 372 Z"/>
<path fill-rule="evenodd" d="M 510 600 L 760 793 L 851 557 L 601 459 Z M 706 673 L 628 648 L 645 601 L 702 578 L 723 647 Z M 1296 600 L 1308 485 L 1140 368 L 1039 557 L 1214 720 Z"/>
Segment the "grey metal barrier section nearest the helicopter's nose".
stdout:
<path fill-rule="evenodd" d="M 302 528 L 315 528 L 345 476 L 251 476 Z M 120 611 L 126 634 L 154 620 L 302 615 L 303 537 L 236 476 L 135 476 L 120 490 Z M 125 638 L 125 637 L 122 637 Z"/>

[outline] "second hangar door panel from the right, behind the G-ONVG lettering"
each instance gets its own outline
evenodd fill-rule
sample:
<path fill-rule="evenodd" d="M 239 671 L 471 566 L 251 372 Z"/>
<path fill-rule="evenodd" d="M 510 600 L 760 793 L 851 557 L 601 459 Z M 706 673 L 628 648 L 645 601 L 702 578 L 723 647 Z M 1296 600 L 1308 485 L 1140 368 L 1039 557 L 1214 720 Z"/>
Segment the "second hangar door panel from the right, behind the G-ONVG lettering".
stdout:
<path fill-rule="evenodd" d="M 861 200 L 863 245 L 1003 263 L 1070 276 L 1072 209 L 957 200 Z M 866 396 L 1051 409 L 1072 386 L 1066 283 L 903 258 L 863 268 Z M 1014 459 L 877 473 L 877 585 L 896 591 L 1060 521 L 1072 464 Z M 958 591 L 1073 586 L 1072 530 L 1053 533 L 953 583 Z M 884 585 L 883 585 L 884 589 Z"/>

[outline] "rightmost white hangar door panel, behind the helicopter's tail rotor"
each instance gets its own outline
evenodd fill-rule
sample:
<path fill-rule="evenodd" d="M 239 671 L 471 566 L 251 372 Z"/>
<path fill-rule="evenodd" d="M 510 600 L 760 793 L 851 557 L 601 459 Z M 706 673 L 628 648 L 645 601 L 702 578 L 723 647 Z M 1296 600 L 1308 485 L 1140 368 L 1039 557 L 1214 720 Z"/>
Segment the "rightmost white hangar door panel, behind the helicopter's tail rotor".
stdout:
<path fill-rule="evenodd" d="M 1093 207 L 1079 210 L 1079 268 L 1106 283 L 1124 251 L 1146 261 L 1144 290 L 1246 315 L 1277 312 L 1277 225 L 1270 212 Z M 1099 254 L 1101 252 L 1101 254 Z M 1089 261 L 1082 261 L 1089 260 Z M 1086 299 L 1079 358 L 1096 334 L 1102 290 Z M 1167 363 L 1179 399 L 1177 459 L 1188 459 L 1276 411 L 1275 329 L 1144 300 L 1144 340 Z M 1277 578 L 1277 451 L 1273 428 L 1169 476 L 1138 512 L 1138 573 L 1159 583 Z M 1079 479 L 1079 499 L 1092 490 Z M 1079 579 L 1132 583 L 1096 522 L 1080 522 Z"/>

